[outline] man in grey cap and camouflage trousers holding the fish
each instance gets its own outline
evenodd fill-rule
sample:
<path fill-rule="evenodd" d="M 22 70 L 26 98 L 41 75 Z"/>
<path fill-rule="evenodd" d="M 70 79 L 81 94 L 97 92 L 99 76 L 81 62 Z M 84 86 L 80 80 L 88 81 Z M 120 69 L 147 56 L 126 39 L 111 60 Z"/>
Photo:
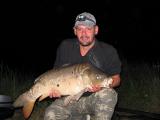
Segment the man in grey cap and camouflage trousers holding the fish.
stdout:
<path fill-rule="evenodd" d="M 89 62 L 112 76 L 111 88 L 120 85 L 121 62 L 117 51 L 107 43 L 96 39 L 98 26 L 95 17 L 83 12 L 76 17 L 74 25 L 75 39 L 64 40 L 58 50 L 54 67 L 65 64 Z M 45 111 L 44 120 L 85 120 L 78 115 L 87 114 L 94 120 L 110 120 L 117 103 L 114 89 L 100 89 L 92 86 L 91 94 L 84 95 L 78 102 L 63 106 L 63 98 L 56 99 Z M 50 97 L 60 97 L 59 91 L 51 91 Z"/>

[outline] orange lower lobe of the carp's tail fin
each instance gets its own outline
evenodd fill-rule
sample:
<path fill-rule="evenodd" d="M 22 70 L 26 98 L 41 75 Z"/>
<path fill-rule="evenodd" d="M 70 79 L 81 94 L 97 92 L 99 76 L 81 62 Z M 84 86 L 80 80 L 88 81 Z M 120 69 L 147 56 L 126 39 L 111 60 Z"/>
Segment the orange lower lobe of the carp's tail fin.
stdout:
<path fill-rule="evenodd" d="M 34 103 L 35 101 L 33 102 L 28 102 L 27 104 L 25 104 L 25 106 L 23 107 L 22 111 L 23 111 L 23 116 L 25 119 L 28 119 L 32 110 L 33 110 L 33 107 L 34 107 Z"/>

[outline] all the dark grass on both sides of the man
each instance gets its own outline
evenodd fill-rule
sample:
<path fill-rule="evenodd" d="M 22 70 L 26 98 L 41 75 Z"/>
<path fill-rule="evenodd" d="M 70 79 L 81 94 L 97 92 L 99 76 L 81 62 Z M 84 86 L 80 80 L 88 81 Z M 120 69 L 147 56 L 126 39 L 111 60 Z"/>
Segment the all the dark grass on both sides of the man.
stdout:
<path fill-rule="evenodd" d="M 145 112 L 160 113 L 160 63 L 129 63 L 123 61 L 121 86 L 118 106 Z M 16 99 L 30 88 L 36 78 L 33 72 L 11 69 L 0 64 L 0 94 L 9 95 Z M 37 102 L 30 120 L 43 119 L 45 108 L 50 101 Z M 21 120 L 22 116 L 15 117 Z M 14 120 L 14 119 L 13 119 Z"/>

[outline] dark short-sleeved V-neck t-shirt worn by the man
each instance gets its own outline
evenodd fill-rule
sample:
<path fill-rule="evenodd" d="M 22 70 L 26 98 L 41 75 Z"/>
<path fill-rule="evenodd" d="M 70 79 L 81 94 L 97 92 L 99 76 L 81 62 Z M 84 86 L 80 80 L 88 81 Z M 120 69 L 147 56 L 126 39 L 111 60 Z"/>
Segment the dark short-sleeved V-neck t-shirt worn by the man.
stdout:
<path fill-rule="evenodd" d="M 54 67 L 84 62 L 93 64 L 108 75 L 119 74 L 121 71 L 121 61 L 113 46 L 96 40 L 89 52 L 85 56 L 81 56 L 76 38 L 62 41 L 57 49 Z"/>

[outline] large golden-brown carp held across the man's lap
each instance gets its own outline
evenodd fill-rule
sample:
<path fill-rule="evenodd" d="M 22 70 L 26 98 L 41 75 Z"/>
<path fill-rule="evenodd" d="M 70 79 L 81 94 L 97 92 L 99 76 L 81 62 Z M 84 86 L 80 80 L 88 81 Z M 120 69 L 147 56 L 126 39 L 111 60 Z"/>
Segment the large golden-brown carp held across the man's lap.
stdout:
<path fill-rule="evenodd" d="M 34 85 L 15 100 L 13 106 L 23 107 L 23 115 L 27 119 L 36 100 L 45 99 L 53 90 L 67 96 L 64 102 L 67 105 L 73 100 L 78 100 L 91 86 L 100 85 L 108 88 L 111 83 L 111 77 L 89 63 L 67 65 L 40 75 Z"/>

